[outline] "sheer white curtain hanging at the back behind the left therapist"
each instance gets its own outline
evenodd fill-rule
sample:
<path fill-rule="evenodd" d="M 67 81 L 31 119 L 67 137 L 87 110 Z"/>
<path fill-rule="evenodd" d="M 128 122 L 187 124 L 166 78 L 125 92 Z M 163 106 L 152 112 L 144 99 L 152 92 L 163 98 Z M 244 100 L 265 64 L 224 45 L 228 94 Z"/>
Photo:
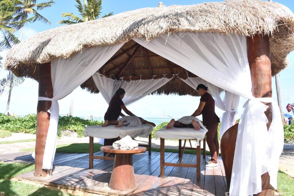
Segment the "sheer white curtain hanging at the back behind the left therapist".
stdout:
<path fill-rule="evenodd" d="M 126 91 L 126 95 L 123 98 L 123 103 L 126 106 L 156 91 L 172 79 L 164 77 L 160 79 L 127 82 L 106 78 L 99 73 L 95 73 L 92 77 L 99 92 L 108 104 L 118 88 L 123 88 Z"/>

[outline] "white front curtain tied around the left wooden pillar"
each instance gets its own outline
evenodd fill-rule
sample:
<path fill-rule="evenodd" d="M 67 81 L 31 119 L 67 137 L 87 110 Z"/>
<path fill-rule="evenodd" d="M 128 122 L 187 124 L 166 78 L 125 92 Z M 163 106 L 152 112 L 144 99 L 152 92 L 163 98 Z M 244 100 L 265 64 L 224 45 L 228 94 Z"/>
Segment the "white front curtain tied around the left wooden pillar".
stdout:
<path fill-rule="evenodd" d="M 67 59 L 57 58 L 51 61 L 53 98 L 38 98 L 38 100 L 52 101 L 51 108 L 48 110 L 51 114 L 43 158 L 43 169 L 52 169 L 56 151 L 59 120 L 59 105 L 57 100 L 69 95 L 75 88 L 90 78 L 122 45 L 123 43 L 111 46 L 91 47 Z"/>

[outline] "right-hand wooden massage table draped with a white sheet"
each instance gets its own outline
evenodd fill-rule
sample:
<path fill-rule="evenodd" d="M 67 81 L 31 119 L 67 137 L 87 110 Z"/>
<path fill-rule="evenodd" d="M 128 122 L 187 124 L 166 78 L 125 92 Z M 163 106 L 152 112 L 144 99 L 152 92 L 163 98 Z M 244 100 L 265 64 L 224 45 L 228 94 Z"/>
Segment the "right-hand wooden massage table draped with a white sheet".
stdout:
<path fill-rule="evenodd" d="M 196 179 L 200 180 L 200 156 L 201 148 L 200 144 L 203 141 L 203 158 L 205 159 L 205 136 L 207 129 L 194 130 L 193 128 L 175 128 L 172 129 L 160 129 L 155 132 L 156 139 L 160 138 L 160 177 L 164 177 L 164 166 L 173 167 L 196 167 Z M 164 140 L 165 139 L 176 139 L 179 140 L 179 157 L 180 163 L 166 163 L 164 162 Z M 185 140 L 183 148 L 181 146 L 181 141 Z M 186 140 L 196 140 L 196 148 L 186 148 L 187 150 L 196 150 L 196 164 L 186 164 L 181 163 L 183 158 L 183 153 L 185 150 Z M 182 151 L 181 151 L 182 150 Z"/>

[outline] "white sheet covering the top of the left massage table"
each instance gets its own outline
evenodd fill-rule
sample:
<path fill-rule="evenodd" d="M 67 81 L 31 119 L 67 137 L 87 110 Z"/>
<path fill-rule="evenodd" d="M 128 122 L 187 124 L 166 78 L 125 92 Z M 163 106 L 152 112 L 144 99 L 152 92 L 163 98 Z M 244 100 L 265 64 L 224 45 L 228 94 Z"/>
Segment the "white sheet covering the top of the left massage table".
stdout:
<path fill-rule="evenodd" d="M 122 126 L 115 127 L 114 125 L 108 125 L 107 127 L 99 126 L 88 126 L 84 130 L 84 136 L 94 137 L 94 138 L 124 138 L 129 135 L 131 138 L 136 138 L 140 136 L 142 138 L 148 138 L 151 134 L 153 126 L 149 124 L 142 124 L 140 126 Z"/>

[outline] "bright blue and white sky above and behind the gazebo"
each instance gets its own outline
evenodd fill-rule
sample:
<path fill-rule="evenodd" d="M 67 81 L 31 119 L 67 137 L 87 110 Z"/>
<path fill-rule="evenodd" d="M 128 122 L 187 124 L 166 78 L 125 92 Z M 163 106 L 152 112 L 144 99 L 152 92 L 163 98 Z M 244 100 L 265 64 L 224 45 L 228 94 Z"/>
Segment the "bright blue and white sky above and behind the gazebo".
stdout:
<path fill-rule="evenodd" d="M 40 1 L 41 2 L 41 1 Z M 74 4 L 74 0 L 55 0 L 54 6 L 51 8 L 40 11 L 40 14 L 49 19 L 52 22 L 51 25 L 43 24 L 39 21 L 28 24 L 24 28 L 23 40 L 29 38 L 30 36 L 45 31 L 47 29 L 55 28 L 60 26 L 58 21 L 62 19 L 61 13 L 72 12 L 78 15 Z M 148 1 L 120 1 L 120 0 L 104 0 L 103 1 L 103 14 L 107 14 L 113 11 L 114 14 L 118 14 L 124 11 L 144 8 L 144 7 L 157 7 L 159 0 L 148 0 Z M 202 3 L 199 0 L 171 0 L 163 1 L 165 6 L 169 5 L 191 5 Z M 205 1 L 210 2 L 210 1 Z M 294 12 L 294 4 L 292 0 L 278 0 L 281 3 Z M 16 32 L 15 35 L 19 36 L 20 32 Z M 0 53 L 1 56 L 6 56 L 6 51 Z M 281 83 L 281 94 L 283 111 L 287 113 L 285 109 L 287 103 L 294 103 L 293 95 L 293 73 L 294 73 L 294 53 L 290 53 L 288 56 L 290 66 L 280 72 L 280 83 Z M 0 78 L 7 75 L 7 71 L 0 69 Z M 272 88 L 273 88 L 273 98 L 277 100 L 276 90 L 275 90 L 275 79 L 272 78 Z M 8 89 L 8 88 L 7 88 Z M 85 90 L 78 87 L 72 93 L 74 96 L 74 115 L 89 117 L 94 115 L 96 117 L 103 117 L 104 113 L 108 107 L 105 100 L 100 94 L 91 94 Z M 7 103 L 8 93 L 4 92 L 0 96 L 0 112 L 4 113 Z M 28 113 L 36 113 L 37 108 L 37 98 L 38 98 L 38 83 L 32 79 L 26 79 L 24 83 L 15 87 L 11 94 L 11 102 L 9 107 L 9 112 L 15 113 L 17 115 L 27 115 Z M 128 106 L 135 115 L 141 117 L 149 118 L 163 118 L 163 113 L 165 111 L 166 115 L 173 118 L 179 118 L 185 115 L 191 115 L 194 110 L 198 107 L 200 97 L 192 96 L 146 96 L 145 98 L 133 103 Z M 59 101 L 60 114 L 69 113 L 71 95 L 65 97 Z M 238 107 L 239 115 L 243 111 L 243 104 L 246 99 L 241 98 Z M 216 113 L 221 117 L 223 111 L 216 108 Z"/>

